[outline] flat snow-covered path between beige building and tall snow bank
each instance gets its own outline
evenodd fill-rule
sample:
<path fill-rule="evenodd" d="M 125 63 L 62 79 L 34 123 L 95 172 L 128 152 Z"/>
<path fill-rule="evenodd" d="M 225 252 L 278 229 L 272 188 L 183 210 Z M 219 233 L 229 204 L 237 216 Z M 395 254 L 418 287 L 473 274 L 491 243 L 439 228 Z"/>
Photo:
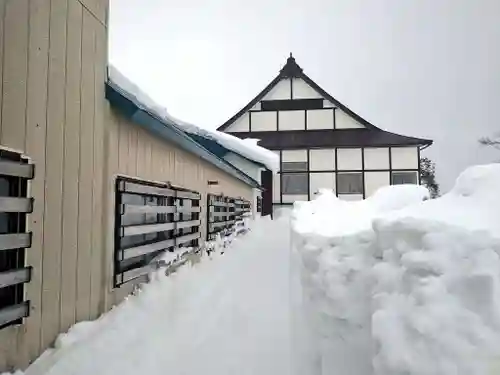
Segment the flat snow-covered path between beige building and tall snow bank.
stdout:
<path fill-rule="evenodd" d="M 27 375 L 291 374 L 289 242 L 288 218 L 257 221 L 225 254 L 75 326 Z"/>

